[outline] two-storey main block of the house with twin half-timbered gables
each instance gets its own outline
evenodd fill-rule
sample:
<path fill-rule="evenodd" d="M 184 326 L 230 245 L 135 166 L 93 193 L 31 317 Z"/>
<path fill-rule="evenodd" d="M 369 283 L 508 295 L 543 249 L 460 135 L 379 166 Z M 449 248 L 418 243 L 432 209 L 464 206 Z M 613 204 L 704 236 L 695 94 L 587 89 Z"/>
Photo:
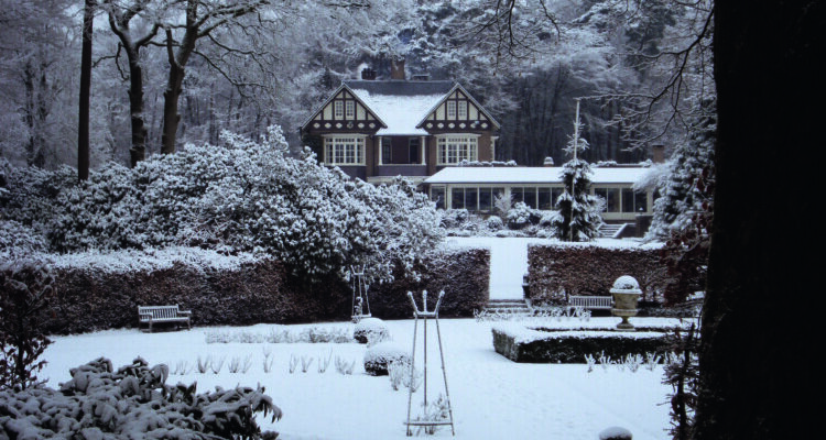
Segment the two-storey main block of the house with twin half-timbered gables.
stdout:
<path fill-rule="evenodd" d="M 461 161 L 492 161 L 499 123 L 459 84 L 405 80 L 403 62 L 391 80 L 345 81 L 301 127 L 325 165 L 382 183 L 422 183 Z"/>

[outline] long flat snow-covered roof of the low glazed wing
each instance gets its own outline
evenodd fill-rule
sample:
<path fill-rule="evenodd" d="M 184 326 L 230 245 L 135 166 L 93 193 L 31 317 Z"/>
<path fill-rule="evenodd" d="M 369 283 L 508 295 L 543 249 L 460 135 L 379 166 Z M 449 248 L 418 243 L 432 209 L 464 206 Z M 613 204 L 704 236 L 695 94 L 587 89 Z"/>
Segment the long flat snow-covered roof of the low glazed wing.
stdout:
<path fill-rule="evenodd" d="M 594 184 L 633 184 L 649 168 L 591 167 Z M 467 167 L 450 166 L 424 180 L 425 184 L 562 184 L 561 166 Z"/>

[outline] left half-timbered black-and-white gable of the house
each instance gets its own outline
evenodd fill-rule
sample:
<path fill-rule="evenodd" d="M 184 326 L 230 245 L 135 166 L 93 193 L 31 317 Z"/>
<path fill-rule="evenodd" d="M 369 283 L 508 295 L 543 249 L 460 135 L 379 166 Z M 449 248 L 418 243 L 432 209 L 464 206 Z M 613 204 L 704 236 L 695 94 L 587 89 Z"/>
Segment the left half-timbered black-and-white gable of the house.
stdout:
<path fill-rule="evenodd" d="M 341 85 L 303 125 L 302 131 L 374 133 L 387 124 L 361 99 Z"/>

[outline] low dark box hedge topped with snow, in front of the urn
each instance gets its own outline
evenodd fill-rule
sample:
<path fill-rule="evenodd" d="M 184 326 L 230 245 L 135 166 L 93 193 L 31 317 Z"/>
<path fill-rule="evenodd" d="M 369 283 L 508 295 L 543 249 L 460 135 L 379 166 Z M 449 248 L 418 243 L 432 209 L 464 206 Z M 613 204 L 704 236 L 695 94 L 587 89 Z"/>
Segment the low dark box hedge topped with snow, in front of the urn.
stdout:
<path fill-rule="evenodd" d="M 672 348 L 664 332 L 559 331 L 530 329 L 525 338 L 503 328 L 492 328 L 493 349 L 513 362 L 583 364 L 585 355 L 619 359 L 627 354 L 665 354 Z"/>

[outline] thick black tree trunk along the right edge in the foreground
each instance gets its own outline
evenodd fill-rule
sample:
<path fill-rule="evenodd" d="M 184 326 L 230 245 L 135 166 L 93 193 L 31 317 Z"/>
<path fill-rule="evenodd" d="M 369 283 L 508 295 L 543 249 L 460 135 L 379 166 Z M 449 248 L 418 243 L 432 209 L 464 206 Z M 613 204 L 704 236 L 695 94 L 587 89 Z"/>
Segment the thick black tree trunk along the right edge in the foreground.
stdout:
<path fill-rule="evenodd" d="M 820 250 L 803 254 L 818 233 L 819 172 L 801 160 L 824 145 L 823 112 L 805 106 L 822 106 L 824 3 L 715 6 L 717 187 L 695 439 L 804 438 L 815 422 L 802 413 L 819 407 L 805 396 L 820 382 L 806 373 L 822 344 L 801 345 L 823 314 L 804 306 L 823 295 L 809 283 Z"/>

